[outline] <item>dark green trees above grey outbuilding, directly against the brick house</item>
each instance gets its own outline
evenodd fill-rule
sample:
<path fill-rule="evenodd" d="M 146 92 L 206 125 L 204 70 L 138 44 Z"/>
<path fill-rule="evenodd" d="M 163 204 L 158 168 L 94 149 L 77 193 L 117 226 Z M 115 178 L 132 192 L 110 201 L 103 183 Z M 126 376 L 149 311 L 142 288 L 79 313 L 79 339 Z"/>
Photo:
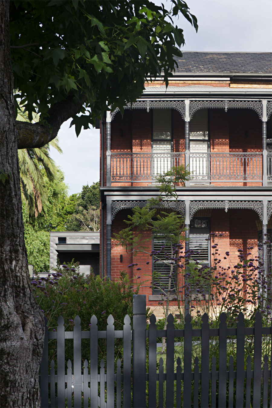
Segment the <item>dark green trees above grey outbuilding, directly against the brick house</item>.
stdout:
<path fill-rule="evenodd" d="M 99 182 L 82 187 L 75 212 L 66 223 L 67 231 L 100 230 L 100 190 Z"/>

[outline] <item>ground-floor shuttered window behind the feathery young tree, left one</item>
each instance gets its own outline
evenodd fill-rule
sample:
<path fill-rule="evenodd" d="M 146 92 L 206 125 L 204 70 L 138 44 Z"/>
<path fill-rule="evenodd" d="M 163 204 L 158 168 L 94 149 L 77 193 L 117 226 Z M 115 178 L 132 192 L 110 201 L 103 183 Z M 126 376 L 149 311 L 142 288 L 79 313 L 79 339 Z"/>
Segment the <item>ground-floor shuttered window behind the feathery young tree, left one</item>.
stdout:
<path fill-rule="evenodd" d="M 171 248 L 169 245 L 166 245 L 165 248 L 161 250 L 161 246 L 163 245 L 166 245 L 165 239 L 159 236 L 153 236 L 153 250 L 160 251 L 160 253 L 156 256 L 158 259 L 157 262 L 154 262 L 155 259 L 153 257 L 153 293 L 161 293 L 160 288 L 168 288 L 171 266 L 170 261 L 168 261 L 167 258 L 171 257 Z M 165 262 L 167 262 L 167 264 Z M 172 277 L 170 288 L 171 290 L 175 288 L 174 277 Z"/>

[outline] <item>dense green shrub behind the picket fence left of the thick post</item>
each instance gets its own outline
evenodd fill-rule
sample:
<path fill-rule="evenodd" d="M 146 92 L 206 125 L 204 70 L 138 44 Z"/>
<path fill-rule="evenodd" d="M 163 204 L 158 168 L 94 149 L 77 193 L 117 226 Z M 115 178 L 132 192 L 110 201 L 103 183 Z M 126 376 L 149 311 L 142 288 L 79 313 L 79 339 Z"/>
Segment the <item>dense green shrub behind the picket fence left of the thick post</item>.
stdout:
<path fill-rule="evenodd" d="M 41 286 L 42 280 L 46 287 Z M 113 315 L 115 330 L 122 330 L 126 314 L 132 319 L 133 288 L 126 273 L 120 273 L 120 281 L 101 279 L 92 273 L 80 274 L 78 263 L 55 268 L 46 278 L 32 282 L 37 302 L 48 320 L 49 330 L 57 328 L 57 319 L 64 318 L 65 330 L 73 330 L 76 315 L 80 316 L 82 330 L 88 330 L 92 315 L 97 317 L 98 330 L 106 330 L 108 315 Z M 136 291 L 137 292 L 137 291 Z M 85 344 L 83 342 L 83 344 Z M 122 341 L 115 341 L 115 354 L 122 358 Z M 100 358 L 106 360 L 106 350 L 100 349 Z M 67 348 L 66 358 L 73 360 L 73 348 Z M 50 356 L 56 353 L 55 343 L 50 347 Z M 70 354 L 69 354 L 70 353 Z M 88 358 L 90 342 L 82 348 L 82 359 Z M 120 354 L 121 353 L 121 354 Z M 85 357 L 84 357 L 85 356 Z"/>

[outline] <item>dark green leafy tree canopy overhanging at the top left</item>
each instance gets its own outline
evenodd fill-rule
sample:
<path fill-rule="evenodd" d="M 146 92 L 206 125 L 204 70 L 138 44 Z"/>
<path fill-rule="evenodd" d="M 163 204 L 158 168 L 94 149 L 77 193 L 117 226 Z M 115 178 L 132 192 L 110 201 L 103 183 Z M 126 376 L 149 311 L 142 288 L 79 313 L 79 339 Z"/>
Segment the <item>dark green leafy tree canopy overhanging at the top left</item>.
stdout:
<path fill-rule="evenodd" d="M 171 16 L 182 13 L 197 30 L 184 1 L 170 4 L 167 10 L 150 1 L 11 1 L 15 96 L 29 120 L 38 106 L 42 124 L 49 109 L 70 98 L 75 106 L 83 104 L 82 115 L 71 122 L 79 135 L 110 106 L 123 112 L 149 76 L 162 73 L 168 85 L 184 44 Z"/>

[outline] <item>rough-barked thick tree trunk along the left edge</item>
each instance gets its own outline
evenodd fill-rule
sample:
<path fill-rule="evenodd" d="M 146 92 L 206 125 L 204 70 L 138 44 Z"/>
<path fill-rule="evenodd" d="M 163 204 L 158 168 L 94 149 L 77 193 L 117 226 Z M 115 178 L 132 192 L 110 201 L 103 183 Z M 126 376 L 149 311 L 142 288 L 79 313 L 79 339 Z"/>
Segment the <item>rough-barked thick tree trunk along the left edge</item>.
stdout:
<path fill-rule="evenodd" d="M 1 407 L 39 407 L 42 312 L 33 297 L 24 245 L 9 50 L 9 2 L 1 8 Z M 5 179 L 5 180 L 4 180 Z"/>

